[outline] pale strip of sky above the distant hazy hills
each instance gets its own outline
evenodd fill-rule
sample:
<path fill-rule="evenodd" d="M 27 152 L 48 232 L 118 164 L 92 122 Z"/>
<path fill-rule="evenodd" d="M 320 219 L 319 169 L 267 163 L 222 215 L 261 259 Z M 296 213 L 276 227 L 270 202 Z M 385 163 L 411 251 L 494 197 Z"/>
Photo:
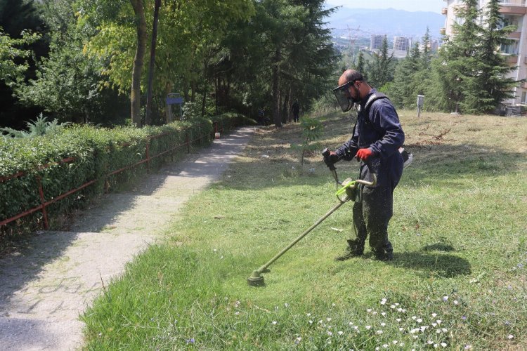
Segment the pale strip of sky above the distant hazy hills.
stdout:
<path fill-rule="evenodd" d="M 395 8 L 436 13 L 441 13 L 441 8 L 446 7 L 445 0 L 326 0 L 326 4 L 348 8 Z"/>

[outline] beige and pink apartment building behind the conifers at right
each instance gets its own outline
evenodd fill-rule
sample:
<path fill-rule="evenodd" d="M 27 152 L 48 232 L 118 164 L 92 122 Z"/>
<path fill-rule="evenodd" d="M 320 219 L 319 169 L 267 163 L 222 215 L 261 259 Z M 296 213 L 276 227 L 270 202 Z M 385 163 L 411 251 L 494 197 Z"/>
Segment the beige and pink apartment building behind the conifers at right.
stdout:
<path fill-rule="evenodd" d="M 485 8 L 489 0 L 479 0 L 479 8 Z M 509 34 L 512 44 L 502 45 L 502 55 L 507 56 L 509 65 L 516 67 L 509 77 L 516 80 L 527 79 L 527 3 L 526 0 L 501 0 L 500 13 L 504 25 L 515 25 L 516 31 Z M 462 0 L 445 0 L 441 13 L 446 16 L 445 27 L 441 34 L 453 35 L 453 23 L 460 22 L 455 8 L 464 6 Z M 480 18 L 483 21 L 483 18 Z M 515 98 L 506 101 L 507 105 L 527 104 L 527 83 L 519 84 L 515 90 Z"/>

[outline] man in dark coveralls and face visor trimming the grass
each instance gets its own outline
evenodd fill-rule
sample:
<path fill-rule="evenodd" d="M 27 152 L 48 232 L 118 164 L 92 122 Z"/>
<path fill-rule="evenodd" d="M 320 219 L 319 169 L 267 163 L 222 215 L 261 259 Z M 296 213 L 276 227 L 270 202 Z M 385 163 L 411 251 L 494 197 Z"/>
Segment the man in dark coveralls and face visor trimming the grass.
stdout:
<path fill-rule="evenodd" d="M 372 181 L 377 174 L 377 184 L 359 185 L 353 204 L 353 225 L 356 239 L 348 240 L 348 247 L 337 260 L 360 256 L 364 252 L 367 236 L 379 260 L 392 260 L 393 249 L 388 240 L 388 223 L 393 214 L 393 189 L 403 174 L 403 157 L 398 152 L 405 135 L 399 117 L 386 95 L 370 87 L 363 75 L 353 69 L 346 70 L 339 78 L 334 94 L 343 112 L 359 104 L 358 117 L 351 139 L 324 161 L 327 166 L 353 157 L 360 159 L 360 179 Z"/>

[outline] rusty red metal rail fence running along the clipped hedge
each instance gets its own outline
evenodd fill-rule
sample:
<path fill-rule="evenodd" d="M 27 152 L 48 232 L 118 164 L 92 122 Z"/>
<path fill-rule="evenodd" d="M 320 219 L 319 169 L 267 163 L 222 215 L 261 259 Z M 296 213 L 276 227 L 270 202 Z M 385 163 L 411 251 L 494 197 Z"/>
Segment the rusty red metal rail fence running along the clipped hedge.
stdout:
<path fill-rule="evenodd" d="M 196 126 L 194 126 L 193 128 L 195 128 Z M 199 126 L 198 126 L 199 127 Z M 218 133 L 218 132 L 223 132 L 225 129 L 229 129 L 230 128 L 230 125 L 225 125 L 223 123 L 221 123 L 221 126 L 218 125 L 218 123 L 214 123 L 214 133 Z M 123 171 L 126 171 L 130 168 L 134 168 L 136 166 L 139 166 L 141 164 L 144 164 L 146 163 L 146 167 L 147 167 L 147 171 L 150 171 L 150 161 L 152 159 L 155 159 L 157 157 L 161 157 L 161 156 L 164 156 L 166 154 L 171 154 L 173 155 L 174 152 L 178 149 L 180 149 L 181 147 L 186 147 L 187 148 L 187 153 L 190 152 L 190 145 L 194 142 L 199 142 L 200 145 L 202 143 L 202 139 L 206 136 L 206 135 L 202 135 L 202 133 L 200 133 L 199 137 L 198 138 L 195 138 L 193 140 L 189 140 L 189 137 L 188 137 L 188 129 L 189 128 L 186 128 L 184 131 L 186 133 L 186 137 L 185 137 L 185 143 L 183 144 L 180 144 L 180 145 L 176 145 L 174 147 L 171 147 L 169 150 L 165 150 L 163 152 L 160 152 L 159 154 L 155 154 L 155 155 L 150 155 L 150 140 L 152 139 L 155 139 L 155 138 L 160 138 L 164 135 L 167 135 L 169 133 L 162 133 L 162 134 L 158 134 L 158 135 L 152 135 L 148 138 L 148 141 L 146 143 L 146 147 L 145 147 L 145 158 L 144 159 L 141 159 L 141 161 L 138 161 L 134 164 L 129 164 L 128 166 L 126 167 L 123 167 L 123 168 L 119 168 L 115 171 L 111 171 L 110 173 L 106 174 L 105 176 L 101 177 L 101 178 L 104 178 L 105 180 L 105 187 L 108 185 L 108 177 L 110 176 L 113 176 L 117 173 L 121 173 Z M 209 135 L 210 137 L 210 135 Z M 54 162 L 54 163 L 51 163 L 51 164 L 44 164 L 42 166 L 39 166 L 37 167 L 37 171 L 40 171 L 42 169 L 45 169 L 45 168 L 48 168 L 49 166 L 53 166 L 53 165 L 56 165 L 56 164 L 65 164 L 65 163 L 69 163 L 69 162 L 72 162 L 74 161 L 75 159 L 73 157 L 68 157 L 66 159 L 61 159 L 60 161 L 58 162 Z M 11 176 L 4 176 L 4 177 L 0 177 L 0 183 L 3 183 L 3 182 L 6 182 L 8 180 L 11 180 L 11 179 L 14 179 L 14 178 L 18 178 L 18 177 L 21 177 L 21 176 L 25 176 L 26 173 L 25 172 L 18 172 L 18 173 L 15 173 Z M 48 214 L 46 212 L 46 207 L 50 206 L 51 204 L 54 204 L 55 202 L 57 201 L 60 201 L 61 199 L 64 199 L 65 197 L 67 196 L 70 196 L 71 194 L 74 194 L 75 192 L 78 192 L 79 190 L 82 190 L 84 189 L 85 187 L 89 187 L 90 185 L 92 185 L 93 183 L 96 183 L 98 180 L 100 180 L 101 178 L 97 178 L 97 179 L 93 179 L 93 180 L 90 180 L 89 182 L 87 183 L 84 183 L 83 185 L 81 185 L 80 187 L 76 187 L 72 190 L 69 190 L 67 192 L 65 192 L 64 194 L 60 194 L 59 196 L 57 197 L 53 197 L 53 199 L 50 199 L 50 200 L 47 200 L 46 201 L 46 196 L 44 194 L 44 188 L 42 187 L 42 182 L 41 182 L 41 178 L 40 176 L 35 176 L 36 180 L 37 180 L 37 187 L 38 187 L 38 191 L 39 191 L 39 200 L 40 200 L 40 205 L 37 206 L 37 207 L 34 207 L 34 208 L 31 208 L 30 210 L 27 210 L 27 211 L 23 211 L 21 213 L 18 213 L 16 216 L 13 216 L 11 218 L 6 218 L 5 220 L 1 220 L 0 221 L 0 227 L 2 225 L 6 225 L 8 223 L 11 223 L 15 220 L 18 220 L 22 217 L 25 217 L 25 216 L 29 216 L 30 214 L 34 213 L 34 212 L 37 212 L 37 211 L 41 211 L 42 212 L 42 217 L 44 219 L 43 223 L 44 223 L 44 229 L 48 229 L 49 227 L 49 223 L 48 223 Z"/>

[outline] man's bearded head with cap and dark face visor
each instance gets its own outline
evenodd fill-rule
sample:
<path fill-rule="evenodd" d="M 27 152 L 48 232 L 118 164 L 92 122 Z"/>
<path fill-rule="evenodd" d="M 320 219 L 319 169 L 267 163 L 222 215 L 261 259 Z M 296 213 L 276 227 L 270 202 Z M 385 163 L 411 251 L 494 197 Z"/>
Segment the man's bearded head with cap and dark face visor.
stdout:
<path fill-rule="evenodd" d="M 333 93 L 339 102 L 342 112 L 349 111 L 353 104 L 360 102 L 371 87 L 366 83 L 364 77 L 355 69 L 346 69 L 339 78 L 339 86 L 333 89 Z"/>

